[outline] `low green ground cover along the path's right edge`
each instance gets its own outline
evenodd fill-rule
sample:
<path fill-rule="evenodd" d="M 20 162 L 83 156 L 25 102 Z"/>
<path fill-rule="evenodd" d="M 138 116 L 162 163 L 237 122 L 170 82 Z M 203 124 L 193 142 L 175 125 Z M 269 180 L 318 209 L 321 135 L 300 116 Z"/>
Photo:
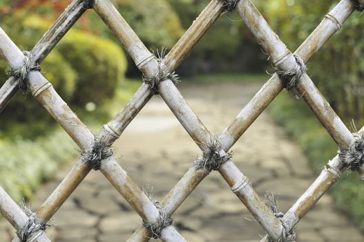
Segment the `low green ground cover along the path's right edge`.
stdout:
<path fill-rule="evenodd" d="M 336 143 L 316 120 L 303 100 L 295 100 L 287 93 L 281 93 L 269 106 L 278 124 L 298 142 L 309 162 L 319 174 L 328 160 L 336 156 Z M 334 197 L 338 210 L 349 214 L 364 231 L 364 187 L 356 172 L 345 171 L 329 192 Z"/>

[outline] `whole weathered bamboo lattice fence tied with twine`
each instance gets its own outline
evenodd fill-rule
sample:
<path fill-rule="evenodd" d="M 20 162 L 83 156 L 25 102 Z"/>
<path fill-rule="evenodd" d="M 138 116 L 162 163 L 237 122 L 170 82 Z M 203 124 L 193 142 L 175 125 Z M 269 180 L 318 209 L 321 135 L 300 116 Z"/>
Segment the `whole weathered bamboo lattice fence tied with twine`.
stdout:
<path fill-rule="evenodd" d="M 345 127 L 320 91 L 316 89 L 314 82 L 305 73 L 304 63 L 343 26 L 354 10 L 363 10 L 363 1 L 341 0 L 325 15 L 323 21 L 303 44 L 294 53 L 291 53 L 280 41 L 278 35 L 271 30 L 267 21 L 251 1 L 212 0 L 169 53 L 163 59 L 158 59 L 144 46 L 110 0 L 74 0 L 26 55 L 0 28 L 1 54 L 12 70 L 19 70 L 19 67 L 26 65 L 27 62 L 40 64 L 88 8 L 93 8 L 97 12 L 131 55 L 137 68 L 142 72 L 144 83 L 124 106 L 124 109 L 104 125 L 99 136 L 94 136 L 77 118 L 77 115 L 52 88 L 52 84 L 36 68 L 26 70 L 26 77 L 15 75 L 3 84 L 0 89 L 0 110 L 18 91 L 19 82 L 25 81 L 27 89 L 76 142 L 83 154 L 35 214 L 21 210 L 21 207 L 12 201 L 12 198 L 0 187 L 0 212 L 18 231 L 18 237 L 14 241 L 50 241 L 44 234 L 46 221 L 55 215 L 59 207 L 93 168 L 99 169 L 104 174 L 142 218 L 143 225 L 135 230 L 128 241 L 149 241 L 151 237 L 159 238 L 162 241 L 185 241 L 171 224 L 171 215 L 212 170 L 220 172 L 233 193 L 238 196 L 267 232 L 267 236 L 262 241 L 294 241 L 294 227 L 300 219 L 341 178 L 343 171 L 352 167 L 352 164 L 347 162 L 346 156 L 349 151 L 355 149 L 355 143 L 358 140 L 363 141 L 360 133 L 364 131 L 363 128 L 359 134 L 352 134 Z M 173 71 L 204 33 L 209 30 L 214 21 L 222 13 L 230 10 L 235 10 L 242 17 L 271 57 L 277 72 L 240 111 L 229 127 L 220 136 L 213 136 L 178 91 L 174 83 L 176 78 Z M 305 100 L 314 115 L 338 144 L 341 153 L 327 163 L 314 183 L 283 216 L 274 209 L 274 204 L 267 205 L 258 196 L 249 179 L 234 165 L 229 149 L 285 87 L 296 89 L 298 95 Z M 184 174 L 160 203 L 152 201 L 133 179 L 128 177 L 126 171 L 116 162 L 111 150 L 113 142 L 122 135 L 124 129 L 155 93 L 163 98 L 187 133 L 202 150 L 202 156 L 195 160 L 195 165 Z M 354 158 L 356 157 L 354 156 Z M 363 160 L 355 168 L 361 175 L 361 179 L 364 180 Z M 272 201 L 274 199 L 270 200 L 274 202 Z M 30 226 L 37 228 L 26 230 L 25 227 Z M 19 231 L 25 231 L 28 234 L 26 237 L 21 237 Z"/>

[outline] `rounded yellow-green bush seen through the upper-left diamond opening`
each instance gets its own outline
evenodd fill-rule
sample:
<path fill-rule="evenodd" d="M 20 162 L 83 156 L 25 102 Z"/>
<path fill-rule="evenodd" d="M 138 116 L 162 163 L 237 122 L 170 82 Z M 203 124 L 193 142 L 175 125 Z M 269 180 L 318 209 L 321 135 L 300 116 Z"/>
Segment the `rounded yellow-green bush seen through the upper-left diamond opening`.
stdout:
<path fill-rule="evenodd" d="M 73 104 L 102 104 L 113 97 L 126 71 L 126 58 L 119 46 L 87 32 L 70 31 L 57 50 L 77 73 Z"/>

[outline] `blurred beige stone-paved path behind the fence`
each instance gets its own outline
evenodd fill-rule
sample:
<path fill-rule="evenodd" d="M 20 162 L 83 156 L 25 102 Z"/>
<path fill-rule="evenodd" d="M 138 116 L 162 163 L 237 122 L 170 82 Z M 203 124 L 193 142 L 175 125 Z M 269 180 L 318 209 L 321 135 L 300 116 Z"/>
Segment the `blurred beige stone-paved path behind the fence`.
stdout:
<path fill-rule="evenodd" d="M 193 110 L 211 133 L 220 134 L 260 84 L 180 86 Z M 164 102 L 155 97 L 115 143 L 116 155 L 140 187 L 153 187 L 161 200 L 200 154 L 198 147 Z M 233 160 L 261 194 L 277 194 L 285 212 L 314 180 L 307 159 L 281 127 L 263 113 L 232 149 Z M 66 176 L 70 167 L 40 189 L 32 207 L 39 207 Z M 175 227 L 194 242 L 259 241 L 265 232 L 213 171 L 173 215 Z M 92 171 L 57 212 L 56 242 L 126 241 L 141 219 L 99 172 Z M 0 241 L 8 239 L 8 223 L 0 223 Z M 325 195 L 298 225 L 297 241 L 364 241 L 348 219 Z M 5 239 L 4 239 L 5 238 Z"/>

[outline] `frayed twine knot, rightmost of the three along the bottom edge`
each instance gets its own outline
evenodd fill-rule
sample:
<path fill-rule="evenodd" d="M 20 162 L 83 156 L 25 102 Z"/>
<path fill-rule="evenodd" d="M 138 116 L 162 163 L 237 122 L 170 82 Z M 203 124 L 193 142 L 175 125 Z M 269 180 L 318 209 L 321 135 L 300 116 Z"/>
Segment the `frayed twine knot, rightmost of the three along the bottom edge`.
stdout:
<path fill-rule="evenodd" d="M 274 194 L 271 194 L 267 192 L 265 194 L 265 200 L 269 208 L 271 209 L 271 212 L 273 212 L 274 216 L 279 219 L 280 223 L 282 223 L 283 231 L 282 235 L 278 239 L 278 241 L 274 241 L 272 239 L 269 239 L 270 242 L 294 242 L 296 241 L 296 231 L 294 231 L 294 228 L 289 229 L 288 225 L 283 221 L 283 214 L 278 210 L 278 205 L 276 198 L 274 197 Z"/>

